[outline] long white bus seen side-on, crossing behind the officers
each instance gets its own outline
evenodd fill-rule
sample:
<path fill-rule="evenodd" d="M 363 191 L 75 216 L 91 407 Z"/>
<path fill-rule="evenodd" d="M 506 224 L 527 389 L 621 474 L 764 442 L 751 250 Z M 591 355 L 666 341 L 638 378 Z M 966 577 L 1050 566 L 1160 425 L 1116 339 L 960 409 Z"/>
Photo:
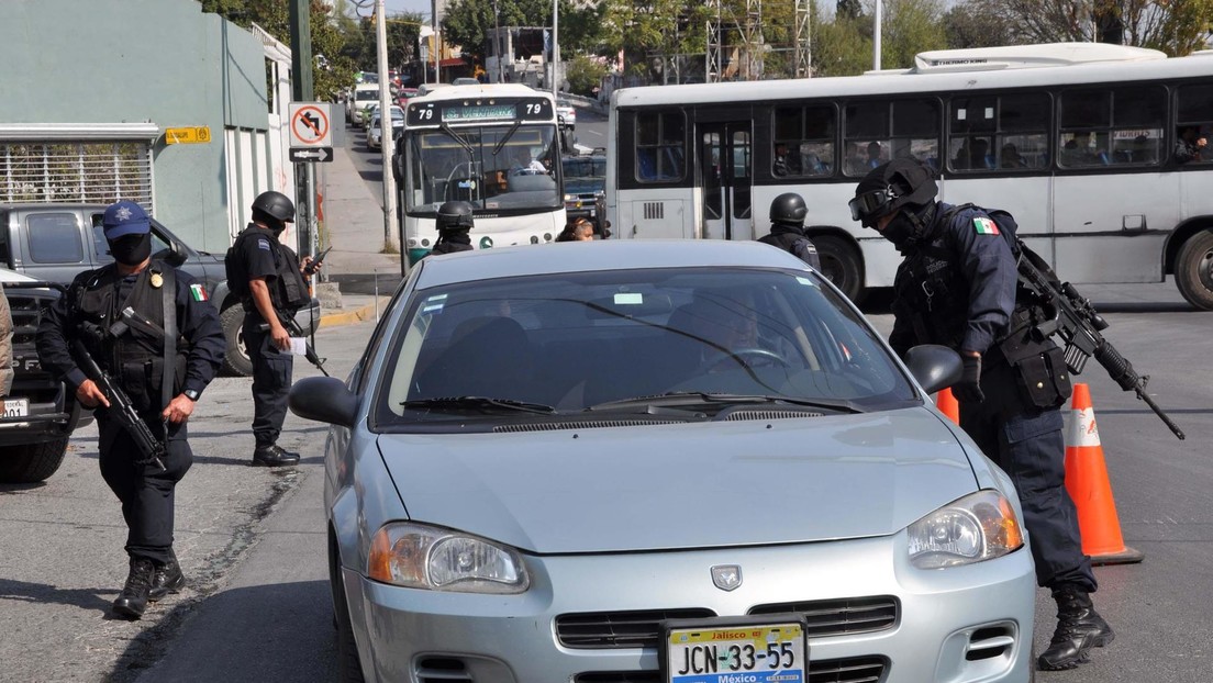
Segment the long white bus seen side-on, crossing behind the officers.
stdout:
<path fill-rule="evenodd" d="M 1213 55 L 1100 44 L 924 52 L 850 78 L 633 87 L 611 97 L 606 198 L 620 238 L 756 239 L 801 193 L 822 269 L 853 298 L 899 257 L 850 220 L 872 166 L 915 156 L 940 199 L 1010 211 L 1076 284 L 1174 275 L 1213 309 Z M 723 163 L 722 163 L 723 161 Z"/>

